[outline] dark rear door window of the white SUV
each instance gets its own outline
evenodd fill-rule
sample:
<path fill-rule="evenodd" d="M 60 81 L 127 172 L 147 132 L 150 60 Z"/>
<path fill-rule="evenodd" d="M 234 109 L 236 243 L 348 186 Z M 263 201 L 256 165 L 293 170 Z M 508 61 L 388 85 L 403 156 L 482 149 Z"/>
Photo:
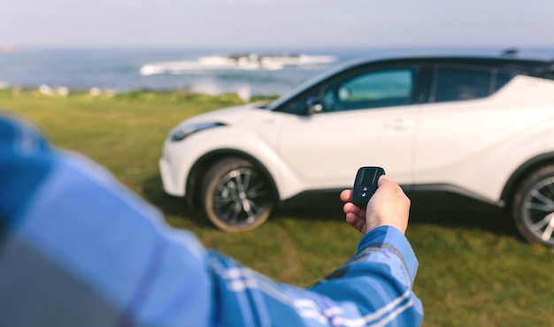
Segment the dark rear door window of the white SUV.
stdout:
<path fill-rule="evenodd" d="M 480 99 L 489 95 L 489 71 L 439 68 L 435 75 L 435 103 Z"/>

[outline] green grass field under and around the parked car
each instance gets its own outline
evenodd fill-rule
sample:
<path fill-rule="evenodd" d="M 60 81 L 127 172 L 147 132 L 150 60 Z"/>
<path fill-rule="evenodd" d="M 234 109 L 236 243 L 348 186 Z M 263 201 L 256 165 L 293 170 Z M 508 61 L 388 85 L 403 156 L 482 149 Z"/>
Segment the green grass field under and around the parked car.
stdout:
<path fill-rule="evenodd" d="M 234 95 L 45 96 L 0 91 L 0 109 L 38 125 L 59 148 L 79 151 L 207 247 L 281 282 L 311 285 L 348 259 L 360 235 L 342 210 L 277 211 L 251 232 L 219 232 L 161 191 L 158 157 L 184 118 L 241 101 Z M 412 212 L 408 238 L 419 258 L 414 286 L 425 326 L 551 326 L 554 252 L 521 240 L 510 220 L 471 211 Z"/>

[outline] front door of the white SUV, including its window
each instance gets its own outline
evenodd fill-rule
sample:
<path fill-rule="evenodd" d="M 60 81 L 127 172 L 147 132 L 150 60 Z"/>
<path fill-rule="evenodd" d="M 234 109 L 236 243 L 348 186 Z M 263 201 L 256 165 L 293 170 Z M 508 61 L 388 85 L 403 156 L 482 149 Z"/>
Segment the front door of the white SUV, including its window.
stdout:
<path fill-rule="evenodd" d="M 312 87 L 289 107 L 315 99 L 323 110 L 282 118 L 283 161 L 307 189 L 349 187 L 365 165 L 410 183 L 418 79 L 415 65 L 365 67 Z"/>

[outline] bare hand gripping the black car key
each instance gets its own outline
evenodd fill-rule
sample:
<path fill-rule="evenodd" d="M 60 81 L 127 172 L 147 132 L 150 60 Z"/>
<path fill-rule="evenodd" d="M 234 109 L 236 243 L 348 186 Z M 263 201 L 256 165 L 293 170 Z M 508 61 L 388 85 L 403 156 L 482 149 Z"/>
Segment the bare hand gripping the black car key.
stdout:
<path fill-rule="evenodd" d="M 365 209 L 358 208 L 352 200 L 352 190 L 341 192 L 346 222 L 363 234 L 379 226 L 393 226 L 405 233 L 410 215 L 410 199 L 392 179 L 382 175 L 379 187 Z"/>

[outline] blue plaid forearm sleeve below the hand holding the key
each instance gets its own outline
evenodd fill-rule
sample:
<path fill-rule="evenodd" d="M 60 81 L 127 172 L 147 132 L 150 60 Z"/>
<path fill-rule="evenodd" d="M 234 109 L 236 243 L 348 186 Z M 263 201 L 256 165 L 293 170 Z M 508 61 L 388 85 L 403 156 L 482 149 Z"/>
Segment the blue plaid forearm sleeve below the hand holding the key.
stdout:
<path fill-rule="evenodd" d="M 423 318 L 412 293 L 417 261 L 394 227 L 367 233 L 356 255 L 308 290 L 218 254 L 211 266 L 223 326 L 419 326 Z"/>

